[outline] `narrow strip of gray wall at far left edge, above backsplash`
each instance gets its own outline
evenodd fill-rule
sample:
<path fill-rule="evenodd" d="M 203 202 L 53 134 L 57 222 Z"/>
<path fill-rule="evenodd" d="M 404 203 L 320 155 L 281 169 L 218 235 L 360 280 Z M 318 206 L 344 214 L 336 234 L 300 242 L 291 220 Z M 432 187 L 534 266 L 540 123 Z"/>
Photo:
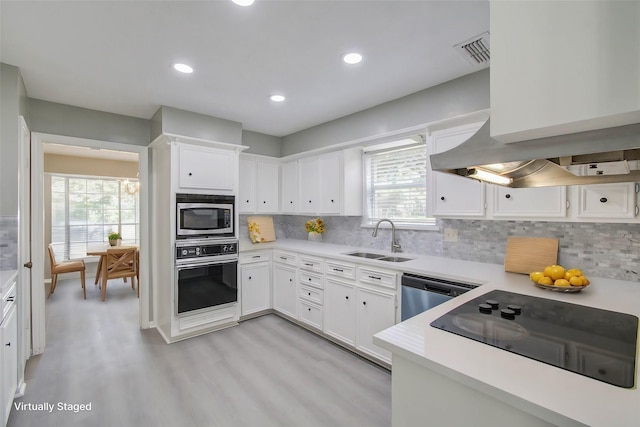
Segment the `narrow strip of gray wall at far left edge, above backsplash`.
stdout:
<path fill-rule="evenodd" d="M 0 215 L 18 214 L 18 141 L 22 115 L 29 123 L 27 91 L 20 71 L 0 63 Z"/>

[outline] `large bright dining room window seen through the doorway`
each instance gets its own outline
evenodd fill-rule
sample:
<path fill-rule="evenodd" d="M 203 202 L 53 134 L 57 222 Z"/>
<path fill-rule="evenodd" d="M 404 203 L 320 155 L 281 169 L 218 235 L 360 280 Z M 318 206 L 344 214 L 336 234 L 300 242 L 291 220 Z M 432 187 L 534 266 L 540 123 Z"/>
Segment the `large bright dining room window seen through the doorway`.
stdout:
<path fill-rule="evenodd" d="M 84 258 L 87 245 L 104 243 L 111 231 L 124 243 L 140 236 L 138 193 L 117 178 L 51 176 L 51 243 L 56 256 Z"/>

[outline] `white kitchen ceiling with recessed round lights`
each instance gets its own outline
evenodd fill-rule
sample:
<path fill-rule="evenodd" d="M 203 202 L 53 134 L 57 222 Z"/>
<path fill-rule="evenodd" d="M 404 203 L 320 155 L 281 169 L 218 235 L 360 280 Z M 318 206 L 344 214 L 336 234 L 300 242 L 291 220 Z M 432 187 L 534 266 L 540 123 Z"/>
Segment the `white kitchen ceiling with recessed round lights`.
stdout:
<path fill-rule="evenodd" d="M 1 0 L 0 19 L 0 61 L 30 98 L 284 136 L 483 68 L 453 46 L 489 30 L 489 2 Z M 347 66 L 352 50 L 364 61 Z"/>

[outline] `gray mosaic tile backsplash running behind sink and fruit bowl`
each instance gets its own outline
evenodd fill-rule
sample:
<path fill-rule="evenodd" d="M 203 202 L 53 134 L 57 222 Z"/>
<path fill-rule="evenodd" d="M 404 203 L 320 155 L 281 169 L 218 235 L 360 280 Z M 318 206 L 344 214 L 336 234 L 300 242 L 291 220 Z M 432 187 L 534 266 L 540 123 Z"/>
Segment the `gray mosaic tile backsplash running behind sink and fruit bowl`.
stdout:
<path fill-rule="evenodd" d="M 311 216 L 274 215 L 277 238 L 306 239 L 304 223 Z M 323 217 L 328 243 L 390 250 L 391 230 L 361 227 L 361 217 Z M 502 264 L 507 237 L 559 239 L 558 263 L 596 277 L 640 281 L 640 224 L 547 221 L 438 219 L 437 231 L 396 230 L 403 252 Z M 444 241 L 444 229 L 458 231 L 457 242 Z M 240 236 L 248 238 L 247 220 L 240 216 Z"/>

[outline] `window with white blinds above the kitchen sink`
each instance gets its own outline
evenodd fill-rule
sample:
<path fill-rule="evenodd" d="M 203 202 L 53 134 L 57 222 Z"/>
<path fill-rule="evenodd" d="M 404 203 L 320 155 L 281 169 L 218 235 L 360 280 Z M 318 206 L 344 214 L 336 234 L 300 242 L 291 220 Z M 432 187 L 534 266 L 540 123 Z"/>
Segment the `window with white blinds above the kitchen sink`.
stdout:
<path fill-rule="evenodd" d="M 427 217 L 427 150 L 407 139 L 365 152 L 365 224 L 382 218 L 397 225 L 434 225 Z"/>

